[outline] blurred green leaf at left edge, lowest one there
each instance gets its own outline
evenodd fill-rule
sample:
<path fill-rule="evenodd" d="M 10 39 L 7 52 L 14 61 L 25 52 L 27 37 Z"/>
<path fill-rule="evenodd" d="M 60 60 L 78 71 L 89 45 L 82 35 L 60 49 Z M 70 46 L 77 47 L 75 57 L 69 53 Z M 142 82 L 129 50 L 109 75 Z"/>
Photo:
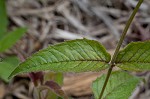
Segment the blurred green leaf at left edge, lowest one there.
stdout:
<path fill-rule="evenodd" d="M 17 57 L 7 57 L 0 62 L 0 78 L 8 82 L 8 77 L 11 72 L 17 67 L 19 60 Z"/>

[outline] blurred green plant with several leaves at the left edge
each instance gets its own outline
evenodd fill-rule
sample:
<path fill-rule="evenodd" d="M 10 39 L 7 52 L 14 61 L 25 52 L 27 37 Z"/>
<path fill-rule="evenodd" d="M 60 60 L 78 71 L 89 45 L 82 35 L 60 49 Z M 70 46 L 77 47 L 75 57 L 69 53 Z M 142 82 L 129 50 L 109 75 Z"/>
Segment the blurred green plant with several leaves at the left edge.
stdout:
<path fill-rule="evenodd" d="M 6 0 L 0 0 L 0 54 L 10 49 L 26 32 L 26 28 L 17 28 L 8 32 L 8 17 L 6 11 Z M 0 78 L 8 82 L 8 76 L 19 64 L 15 56 L 0 58 Z"/>

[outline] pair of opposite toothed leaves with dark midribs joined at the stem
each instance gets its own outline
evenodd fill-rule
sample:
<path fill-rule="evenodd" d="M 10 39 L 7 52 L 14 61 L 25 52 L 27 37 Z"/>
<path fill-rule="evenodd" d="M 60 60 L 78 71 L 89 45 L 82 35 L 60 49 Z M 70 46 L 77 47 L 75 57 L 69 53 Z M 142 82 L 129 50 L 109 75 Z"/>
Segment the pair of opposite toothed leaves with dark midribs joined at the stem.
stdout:
<path fill-rule="evenodd" d="M 130 43 L 119 52 L 116 66 L 124 70 L 150 70 L 150 42 Z M 108 68 L 111 57 L 97 41 L 77 39 L 49 46 L 21 63 L 10 75 L 51 70 L 88 72 Z"/>

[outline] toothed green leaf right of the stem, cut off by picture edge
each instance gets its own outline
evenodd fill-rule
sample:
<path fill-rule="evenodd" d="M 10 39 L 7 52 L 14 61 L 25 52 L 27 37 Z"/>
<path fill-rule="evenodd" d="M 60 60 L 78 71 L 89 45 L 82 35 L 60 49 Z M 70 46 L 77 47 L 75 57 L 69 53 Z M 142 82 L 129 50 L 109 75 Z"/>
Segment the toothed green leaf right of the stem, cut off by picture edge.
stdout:
<path fill-rule="evenodd" d="M 119 52 L 115 63 L 124 70 L 150 70 L 150 41 L 130 43 Z"/>

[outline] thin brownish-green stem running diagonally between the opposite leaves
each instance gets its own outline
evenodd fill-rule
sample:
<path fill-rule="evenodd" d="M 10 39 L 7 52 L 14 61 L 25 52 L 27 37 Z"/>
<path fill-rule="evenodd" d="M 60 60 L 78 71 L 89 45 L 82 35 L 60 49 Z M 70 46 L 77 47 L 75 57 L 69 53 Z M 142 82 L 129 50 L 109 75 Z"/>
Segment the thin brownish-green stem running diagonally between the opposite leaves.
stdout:
<path fill-rule="evenodd" d="M 109 68 L 109 70 L 108 70 L 108 72 L 107 72 L 107 76 L 106 76 L 106 79 L 105 79 L 105 82 L 104 82 L 102 91 L 101 91 L 101 93 L 100 93 L 99 99 L 101 99 L 102 96 L 103 96 L 103 93 L 104 93 L 104 91 L 105 91 L 105 88 L 106 88 L 107 82 L 108 82 L 108 80 L 109 80 L 109 77 L 110 77 L 110 75 L 111 75 L 112 69 L 113 69 L 113 67 L 115 66 L 115 61 L 116 61 L 117 55 L 118 55 L 118 53 L 119 53 L 120 47 L 121 47 L 121 45 L 122 45 L 122 42 L 123 42 L 123 40 L 124 40 L 124 38 L 125 38 L 125 36 L 126 36 L 126 34 L 127 34 L 127 31 L 128 31 L 128 29 L 129 29 L 129 27 L 130 27 L 130 25 L 131 25 L 131 22 L 133 21 L 133 19 L 134 19 L 136 13 L 137 13 L 138 9 L 140 8 L 140 6 L 141 6 L 141 4 L 142 4 L 143 1 L 144 1 L 144 0 L 139 0 L 138 4 L 136 5 L 135 9 L 133 10 L 133 12 L 132 12 L 130 18 L 128 19 L 128 21 L 127 21 L 127 23 L 126 23 L 126 26 L 125 26 L 125 28 L 124 28 L 124 30 L 123 30 L 123 33 L 122 33 L 122 35 L 121 35 L 121 37 L 120 37 L 120 40 L 119 40 L 118 44 L 117 44 L 115 53 L 114 53 L 114 55 L 113 55 L 113 57 L 112 57 L 112 59 L 111 59 L 111 61 L 110 61 L 110 68 Z"/>

